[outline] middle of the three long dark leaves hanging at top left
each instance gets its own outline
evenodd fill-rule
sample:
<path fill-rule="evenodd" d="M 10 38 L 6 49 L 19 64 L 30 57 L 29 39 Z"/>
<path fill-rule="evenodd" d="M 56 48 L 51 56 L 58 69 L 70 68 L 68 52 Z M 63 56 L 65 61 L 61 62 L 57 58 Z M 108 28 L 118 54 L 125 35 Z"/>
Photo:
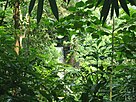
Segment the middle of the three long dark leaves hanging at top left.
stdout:
<path fill-rule="evenodd" d="M 37 23 L 40 22 L 42 18 L 42 13 L 43 13 L 43 3 L 44 0 L 38 0 L 38 8 L 37 8 Z"/>

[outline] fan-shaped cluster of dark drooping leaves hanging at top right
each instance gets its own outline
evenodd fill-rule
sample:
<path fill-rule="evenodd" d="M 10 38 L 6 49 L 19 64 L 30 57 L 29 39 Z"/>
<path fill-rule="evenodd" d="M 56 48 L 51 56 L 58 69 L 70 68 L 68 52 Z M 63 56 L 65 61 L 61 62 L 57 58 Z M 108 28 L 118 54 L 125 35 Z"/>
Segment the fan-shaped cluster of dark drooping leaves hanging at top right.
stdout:
<path fill-rule="evenodd" d="M 136 6 L 136 0 L 128 0 L 128 1 L 129 1 L 130 4 Z M 98 0 L 96 7 L 101 2 L 102 2 L 102 0 Z M 114 11 L 116 13 L 116 16 L 117 17 L 119 16 L 119 3 L 121 5 L 121 7 L 123 8 L 123 10 L 128 15 L 130 15 L 126 0 L 104 0 L 103 7 L 102 7 L 102 10 L 101 10 L 101 16 L 100 16 L 100 20 L 102 20 L 103 23 L 106 21 L 106 18 L 108 16 L 108 13 L 109 13 L 110 10 L 111 10 L 111 18 L 114 15 Z"/>

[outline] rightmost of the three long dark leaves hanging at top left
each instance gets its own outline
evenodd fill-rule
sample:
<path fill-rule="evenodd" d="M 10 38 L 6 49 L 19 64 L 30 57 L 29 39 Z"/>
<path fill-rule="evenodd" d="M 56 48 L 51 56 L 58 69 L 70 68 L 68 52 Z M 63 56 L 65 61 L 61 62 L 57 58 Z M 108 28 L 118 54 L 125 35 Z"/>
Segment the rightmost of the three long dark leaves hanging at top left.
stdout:
<path fill-rule="evenodd" d="M 56 0 L 49 0 L 49 3 L 50 3 L 51 10 L 52 10 L 54 16 L 56 17 L 57 20 L 59 20 L 58 7 L 56 4 Z"/>

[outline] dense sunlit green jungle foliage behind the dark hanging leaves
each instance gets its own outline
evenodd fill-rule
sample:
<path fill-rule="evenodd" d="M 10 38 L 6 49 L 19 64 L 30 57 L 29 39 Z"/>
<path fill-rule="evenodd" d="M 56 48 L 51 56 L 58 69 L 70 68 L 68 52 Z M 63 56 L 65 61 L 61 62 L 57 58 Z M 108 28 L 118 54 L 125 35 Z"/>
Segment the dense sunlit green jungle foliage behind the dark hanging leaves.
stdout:
<path fill-rule="evenodd" d="M 69 6 L 58 1 L 59 21 L 47 3 L 41 11 L 37 1 L 29 20 L 29 2 L 22 0 L 20 27 L 15 29 L 14 3 L 9 2 L 11 7 L 4 9 L 6 0 L 0 1 L 1 102 L 136 101 L 134 6 L 128 5 L 130 16 L 120 9 L 119 18 L 114 22 L 108 18 L 102 26 L 101 5 L 94 11 L 95 5 L 89 0 L 71 1 Z M 53 7 L 53 1 L 49 2 Z M 38 25 L 36 9 L 40 10 L 38 22 L 46 12 Z M 14 50 L 18 47 L 16 33 L 25 35 L 22 43 L 20 39 L 19 54 Z M 62 54 L 56 46 L 64 48 L 64 63 L 58 61 Z"/>

